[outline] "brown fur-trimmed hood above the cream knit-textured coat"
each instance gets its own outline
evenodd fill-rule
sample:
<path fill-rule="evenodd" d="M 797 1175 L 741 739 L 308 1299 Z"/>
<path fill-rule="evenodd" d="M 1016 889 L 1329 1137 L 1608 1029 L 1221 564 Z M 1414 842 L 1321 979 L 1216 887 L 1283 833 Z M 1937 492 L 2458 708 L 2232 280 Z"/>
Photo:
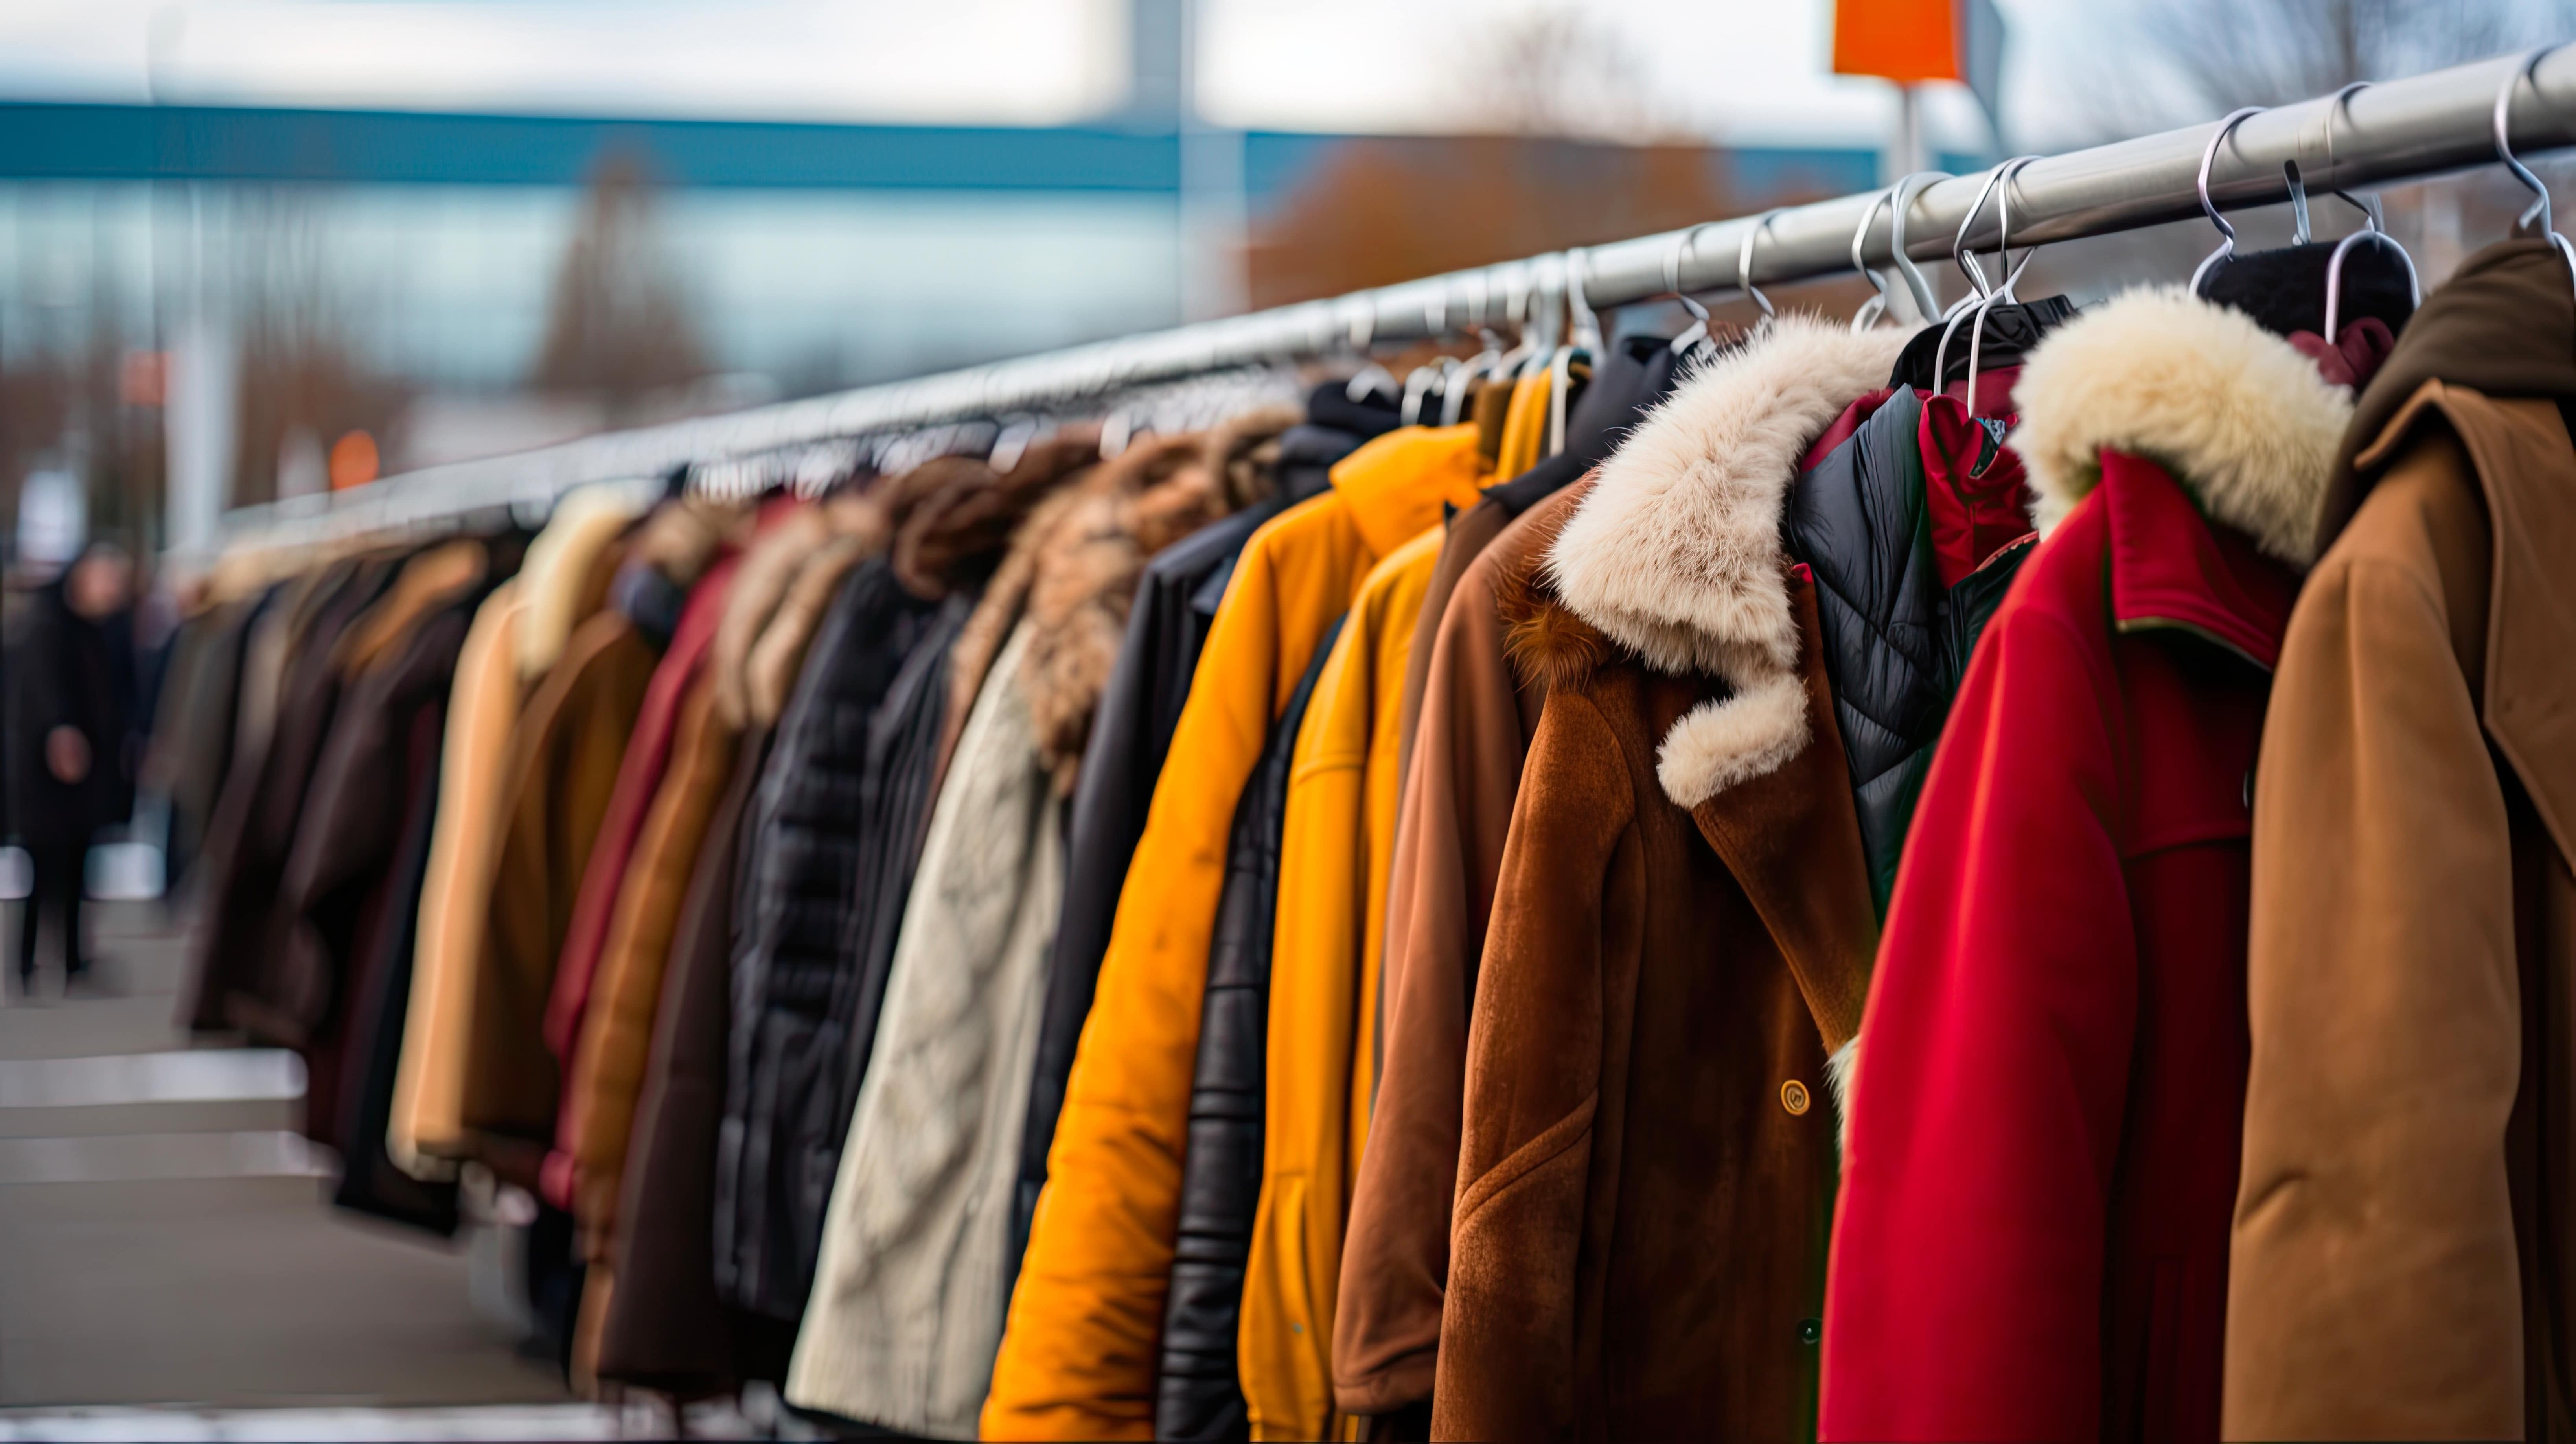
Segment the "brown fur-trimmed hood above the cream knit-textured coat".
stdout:
<path fill-rule="evenodd" d="M 951 655 L 948 737 L 974 712 L 1012 627 L 1030 624 L 1018 683 L 1038 761 L 1072 794 L 1144 562 L 1273 490 L 1278 436 L 1296 407 L 1257 407 L 1195 436 L 1151 436 L 1048 495 L 1012 536 Z"/>

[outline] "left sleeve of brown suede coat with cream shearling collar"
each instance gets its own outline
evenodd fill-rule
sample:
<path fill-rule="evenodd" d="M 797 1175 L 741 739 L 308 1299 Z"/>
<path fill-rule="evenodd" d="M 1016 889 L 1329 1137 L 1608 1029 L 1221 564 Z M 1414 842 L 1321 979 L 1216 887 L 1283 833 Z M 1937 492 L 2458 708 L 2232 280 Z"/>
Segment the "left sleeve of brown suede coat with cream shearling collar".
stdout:
<path fill-rule="evenodd" d="M 1502 854 L 1468 1024 L 1432 1439 L 1577 1429 L 1574 1264 L 1600 1106 L 1602 980 L 1633 786 L 1582 694 L 1548 696 Z M 1633 946 L 1633 941 L 1631 941 Z"/>

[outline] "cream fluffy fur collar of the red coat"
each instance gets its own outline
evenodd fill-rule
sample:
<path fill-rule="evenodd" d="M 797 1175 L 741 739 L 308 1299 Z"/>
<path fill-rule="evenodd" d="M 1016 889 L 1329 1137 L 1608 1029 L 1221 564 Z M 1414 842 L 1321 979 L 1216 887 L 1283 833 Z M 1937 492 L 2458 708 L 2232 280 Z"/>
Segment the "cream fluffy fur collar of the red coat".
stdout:
<path fill-rule="evenodd" d="M 2352 392 L 2244 312 L 2179 286 L 2125 291 L 2053 330 L 2012 402 L 2043 536 L 2099 485 L 2110 449 L 2174 472 L 2210 521 L 2267 554 L 2316 560 Z"/>

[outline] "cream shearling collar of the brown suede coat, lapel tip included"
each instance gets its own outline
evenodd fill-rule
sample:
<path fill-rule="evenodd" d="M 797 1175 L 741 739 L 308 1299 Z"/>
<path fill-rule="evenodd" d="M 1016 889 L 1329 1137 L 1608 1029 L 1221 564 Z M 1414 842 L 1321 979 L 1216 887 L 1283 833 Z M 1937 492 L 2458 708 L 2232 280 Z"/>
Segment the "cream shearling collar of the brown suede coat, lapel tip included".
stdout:
<path fill-rule="evenodd" d="M 1682 807 L 1806 748 L 1780 511 L 1798 456 L 1886 382 L 1904 340 L 1814 315 L 1765 322 L 1638 423 L 1548 547 L 1551 590 L 1584 624 L 1656 670 L 1734 683 L 1664 735 L 1656 776 Z"/>

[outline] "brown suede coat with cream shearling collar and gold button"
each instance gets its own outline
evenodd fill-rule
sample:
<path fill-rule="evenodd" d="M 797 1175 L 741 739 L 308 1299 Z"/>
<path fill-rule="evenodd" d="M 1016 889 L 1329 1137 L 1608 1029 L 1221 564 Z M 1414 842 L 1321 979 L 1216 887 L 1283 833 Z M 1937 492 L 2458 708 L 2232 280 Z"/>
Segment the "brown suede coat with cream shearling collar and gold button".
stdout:
<path fill-rule="evenodd" d="M 1682 382 L 1515 621 L 1548 699 L 1468 1029 L 1440 1439 L 1803 1429 L 1875 921 L 1780 508 L 1893 353 L 1783 317 Z"/>

